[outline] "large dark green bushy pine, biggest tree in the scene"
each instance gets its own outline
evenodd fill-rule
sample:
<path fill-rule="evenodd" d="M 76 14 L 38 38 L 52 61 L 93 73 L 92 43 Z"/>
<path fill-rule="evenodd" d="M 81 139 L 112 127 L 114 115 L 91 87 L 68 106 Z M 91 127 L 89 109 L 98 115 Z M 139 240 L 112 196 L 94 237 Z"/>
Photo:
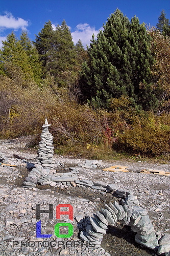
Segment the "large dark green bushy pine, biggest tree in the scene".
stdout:
<path fill-rule="evenodd" d="M 130 22 L 118 9 L 111 14 L 87 50 L 89 61 L 83 64 L 80 79 L 84 100 L 109 108 L 111 98 L 126 95 L 138 108 L 154 109 L 158 101 L 151 88 L 150 41 L 137 17 Z"/>

